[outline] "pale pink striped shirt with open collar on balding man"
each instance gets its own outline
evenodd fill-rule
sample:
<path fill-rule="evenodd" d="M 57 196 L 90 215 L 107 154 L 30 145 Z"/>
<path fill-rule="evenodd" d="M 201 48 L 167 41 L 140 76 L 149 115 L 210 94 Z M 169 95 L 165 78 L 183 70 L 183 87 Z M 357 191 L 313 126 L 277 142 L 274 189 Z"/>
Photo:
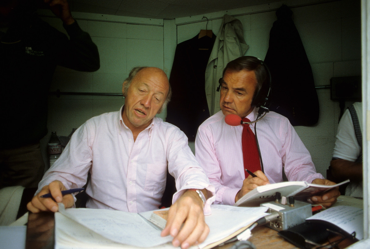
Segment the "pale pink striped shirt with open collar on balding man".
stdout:
<path fill-rule="evenodd" d="M 80 188 L 91 173 L 88 208 L 144 212 L 158 209 L 166 185 L 167 165 L 176 179 L 173 202 L 185 189 L 215 188 L 196 161 L 184 132 L 155 117 L 134 137 L 120 111 L 108 112 L 78 128 L 60 158 L 45 173 L 38 191 L 54 180 L 67 189 Z M 214 197 L 207 200 L 205 214 Z"/>

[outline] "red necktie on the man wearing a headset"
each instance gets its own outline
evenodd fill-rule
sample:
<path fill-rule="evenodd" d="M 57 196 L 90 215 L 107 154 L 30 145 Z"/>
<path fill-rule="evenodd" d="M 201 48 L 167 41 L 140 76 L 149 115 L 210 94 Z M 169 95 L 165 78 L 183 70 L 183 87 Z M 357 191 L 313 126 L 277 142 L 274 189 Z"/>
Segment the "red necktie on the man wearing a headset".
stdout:
<path fill-rule="evenodd" d="M 243 118 L 243 122 L 250 122 L 250 120 L 248 118 Z M 244 169 L 248 169 L 252 172 L 261 170 L 256 137 L 250 129 L 249 124 L 243 124 L 242 150 Z M 247 178 L 249 176 L 248 172 L 244 170 L 244 173 L 245 178 Z"/>

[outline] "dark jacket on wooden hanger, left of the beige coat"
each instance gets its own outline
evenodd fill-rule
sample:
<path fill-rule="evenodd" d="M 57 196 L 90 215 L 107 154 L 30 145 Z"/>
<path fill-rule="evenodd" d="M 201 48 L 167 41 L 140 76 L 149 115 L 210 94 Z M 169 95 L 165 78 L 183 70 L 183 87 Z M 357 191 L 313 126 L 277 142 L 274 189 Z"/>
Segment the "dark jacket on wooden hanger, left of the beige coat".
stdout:
<path fill-rule="evenodd" d="M 199 125 L 209 118 L 205 94 L 205 70 L 215 34 L 198 35 L 176 46 L 169 83 L 172 98 L 167 107 L 166 121 L 179 127 L 194 141 Z"/>

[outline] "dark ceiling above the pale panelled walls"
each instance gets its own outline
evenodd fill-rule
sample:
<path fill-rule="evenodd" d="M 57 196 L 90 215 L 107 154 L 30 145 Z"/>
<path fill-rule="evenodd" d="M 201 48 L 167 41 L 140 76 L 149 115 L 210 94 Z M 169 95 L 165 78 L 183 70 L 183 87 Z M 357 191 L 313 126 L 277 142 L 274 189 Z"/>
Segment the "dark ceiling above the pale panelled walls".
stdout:
<path fill-rule="evenodd" d="M 68 0 L 71 11 L 174 19 L 237 9 L 277 0 Z"/>

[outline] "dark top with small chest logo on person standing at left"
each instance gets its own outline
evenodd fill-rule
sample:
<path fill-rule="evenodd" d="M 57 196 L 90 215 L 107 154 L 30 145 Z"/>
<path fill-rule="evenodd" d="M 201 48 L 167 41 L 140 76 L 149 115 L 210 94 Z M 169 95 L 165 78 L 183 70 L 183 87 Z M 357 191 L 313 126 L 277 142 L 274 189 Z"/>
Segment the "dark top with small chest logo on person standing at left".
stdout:
<path fill-rule="evenodd" d="M 0 32 L 0 148 L 38 142 L 47 134 L 47 96 L 57 65 L 78 71 L 100 67 L 97 46 L 77 22 L 70 39 L 34 14 Z"/>

